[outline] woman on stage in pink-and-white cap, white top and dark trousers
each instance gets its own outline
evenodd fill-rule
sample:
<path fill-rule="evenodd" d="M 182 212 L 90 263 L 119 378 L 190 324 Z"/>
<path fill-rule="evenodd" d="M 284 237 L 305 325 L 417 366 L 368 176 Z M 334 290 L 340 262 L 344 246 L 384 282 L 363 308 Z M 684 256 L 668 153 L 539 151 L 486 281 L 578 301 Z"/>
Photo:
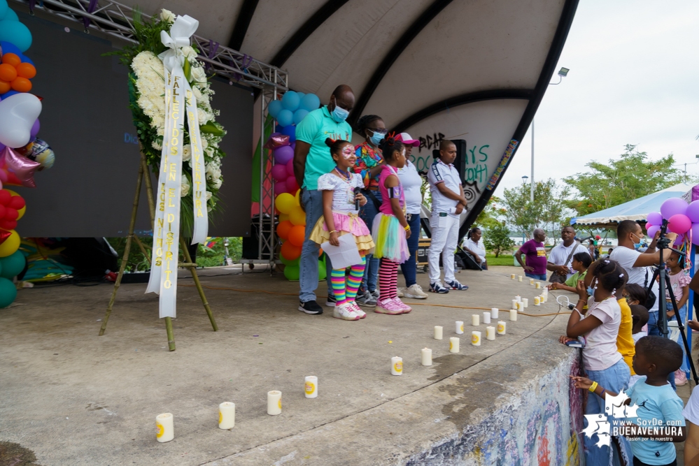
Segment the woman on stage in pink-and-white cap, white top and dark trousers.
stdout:
<path fill-rule="evenodd" d="M 405 146 L 405 166 L 399 168 L 398 178 L 403 186 L 405 196 L 405 219 L 408 221 L 410 231 L 413 233 L 408 238 L 408 251 L 410 258 L 400 264 L 400 270 L 405 277 L 406 289 L 403 296 L 406 298 L 426 299 L 427 293 L 423 291 L 417 283 L 416 252 L 418 251 L 418 241 L 420 241 L 420 211 L 423 204 L 423 194 L 420 191 L 423 179 L 418 173 L 415 164 L 410 161 L 410 153 L 413 147 L 418 147 L 420 141 L 410 137 L 408 133 L 400 133 L 400 139 Z"/>

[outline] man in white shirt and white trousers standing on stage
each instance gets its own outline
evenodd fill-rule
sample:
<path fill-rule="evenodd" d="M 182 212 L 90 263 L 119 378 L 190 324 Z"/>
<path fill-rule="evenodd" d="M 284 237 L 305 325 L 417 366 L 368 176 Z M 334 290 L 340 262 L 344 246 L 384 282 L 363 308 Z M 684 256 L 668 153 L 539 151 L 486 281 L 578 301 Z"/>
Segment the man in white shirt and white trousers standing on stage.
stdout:
<path fill-rule="evenodd" d="M 464 197 L 461 179 L 452 165 L 456 159 L 456 145 L 450 140 L 439 144 L 439 157 L 428 170 L 428 182 L 432 194 L 432 243 L 428 252 L 430 263 L 430 291 L 449 293 L 449 289 L 467 290 L 468 286 L 460 284 L 454 277 L 454 252 L 459 237 L 459 215 L 466 208 L 468 201 Z M 444 284 L 440 281 L 439 254 L 444 265 Z"/>

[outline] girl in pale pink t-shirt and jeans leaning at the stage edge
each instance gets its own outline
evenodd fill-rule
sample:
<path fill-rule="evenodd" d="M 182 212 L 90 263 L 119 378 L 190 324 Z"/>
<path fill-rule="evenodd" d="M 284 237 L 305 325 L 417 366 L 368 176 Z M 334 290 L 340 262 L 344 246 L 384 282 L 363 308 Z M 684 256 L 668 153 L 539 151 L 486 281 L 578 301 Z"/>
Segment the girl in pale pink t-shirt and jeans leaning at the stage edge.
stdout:
<path fill-rule="evenodd" d="M 584 337 L 582 349 L 583 365 L 588 379 L 619 393 L 628 388 L 631 372 L 621 353 L 616 350 L 616 336 L 621 323 L 621 307 L 616 302 L 616 290 L 626 284 L 626 274 L 619 263 L 605 259 L 593 263 L 591 282 L 587 289 L 584 282 L 578 282 L 577 292 L 580 299 L 568 319 L 566 335 L 560 337 L 561 343 Z M 585 306 L 588 310 L 585 311 Z M 585 315 L 583 315 L 585 314 Z M 593 384 L 597 388 L 597 384 Z M 591 387 L 592 388 L 592 387 Z M 602 395 L 604 395 L 602 393 Z M 589 395 L 585 414 L 605 415 L 605 400 L 598 395 Z M 631 458 L 628 440 L 615 437 L 621 446 L 622 456 Z M 607 466 L 612 464 L 612 449 L 598 446 L 599 438 L 583 437 L 585 464 Z M 612 443 L 615 444 L 616 442 Z M 625 464 L 630 464 L 627 461 Z"/>

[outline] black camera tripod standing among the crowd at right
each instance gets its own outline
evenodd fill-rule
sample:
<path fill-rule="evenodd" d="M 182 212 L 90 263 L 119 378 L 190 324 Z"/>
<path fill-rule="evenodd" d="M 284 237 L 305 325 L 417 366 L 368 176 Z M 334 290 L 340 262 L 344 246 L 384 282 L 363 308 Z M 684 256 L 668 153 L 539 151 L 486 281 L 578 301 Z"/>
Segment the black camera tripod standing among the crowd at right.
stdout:
<path fill-rule="evenodd" d="M 670 239 L 665 238 L 666 233 L 668 233 L 668 221 L 663 219 L 663 225 L 661 226 L 661 235 L 660 238 L 658 238 L 658 241 L 656 241 L 656 245 L 658 249 L 660 249 L 660 263 L 654 266 L 655 270 L 653 272 L 653 277 L 651 278 L 651 281 L 648 284 L 648 291 L 650 291 L 651 287 L 653 286 L 656 277 L 660 277 L 660 292 L 658 293 L 659 296 L 657 297 L 658 323 L 656 325 L 658 326 L 661 335 L 663 335 L 663 337 L 665 338 L 668 338 L 668 312 L 667 305 L 665 305 L 665 289 L 667 289 L 668 294 L 670 295 L 670 301 L 672 301 L 672 309 L 675 310 L 675 319 L 677 319 L 679 335 L 682 336 L 682 343 L 684 344 L 686 356 L 689 360 L 689 367 L 692 371 L 692 377 L 694 378 L 694 383 L 696 384 L 696 386 L 699 386 L 699 377 L 697 377 L 697 371 L 694 367 L 694 361 L 692 360 L 692 352 L 689 348 L 689 343 L 687 342 L 684 323 L 682 323 L 682 319 L 679 318 L 679 309 L 677 309 L 677 299 L 675 299 L 675 293 L 672 292 L 672 285 L 670 285 L 670 276 L 665 271 L 665 259 L 663 258 L 663 252 L 665 252 L 665 249 L 670 249 L 670 251 L 677 252 L 677 254 L 679 254 L 681 257 L 686 256 L 686 254 L 682 251 L 678 251 L 677 249 L 670 247 Z M 687 309 L 687 312 L 689 312 L 689 308 Z"/>

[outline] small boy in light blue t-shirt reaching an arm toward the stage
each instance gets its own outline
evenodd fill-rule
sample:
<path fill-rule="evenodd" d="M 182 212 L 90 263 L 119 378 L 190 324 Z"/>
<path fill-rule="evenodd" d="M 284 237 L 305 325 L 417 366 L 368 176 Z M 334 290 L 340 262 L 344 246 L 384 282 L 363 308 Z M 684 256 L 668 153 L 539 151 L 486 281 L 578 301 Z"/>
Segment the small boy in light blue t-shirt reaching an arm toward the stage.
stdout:
<path fill-rule="evenodd" d="M 682 399 L 668 384 L 668 374 L 677 370 L 683 357 L 679 344 L 663 337 L 642 337 L 636 344 L 633 367 L 636 373 L 643 377 L 626 392 L 630 398 L 626 400 L 626 405 L 632 410 L 629 411 L 627 407 L 624 414 L 631 412 L 636 416 L 628 416 L 631 425 L 622 428 L 626 437 L 635 439 L 629 442 L 633 451 L 634 466 L 677 465 L 675 445 L 671 442 L 684 442 L 686 428 L 682 415 Z M 618 395 L 616 389 L 605 384 L 586 377 L 570 377 L 577 388 L 587 389 L 602 399 Z M 590 397 L 588 400 L 591 398 L 596 397 Z M 614 405 L 614 409 L 621 407 Z M 607 413 L 609 414 L 612 413 Z M 610 423 L 613 419 L 609 416 Z M 666 428 L 654 432 L 654 427 L 661 426 Z M 651 428 L 650 432 L 647 432 L 648 428 Z"/>

